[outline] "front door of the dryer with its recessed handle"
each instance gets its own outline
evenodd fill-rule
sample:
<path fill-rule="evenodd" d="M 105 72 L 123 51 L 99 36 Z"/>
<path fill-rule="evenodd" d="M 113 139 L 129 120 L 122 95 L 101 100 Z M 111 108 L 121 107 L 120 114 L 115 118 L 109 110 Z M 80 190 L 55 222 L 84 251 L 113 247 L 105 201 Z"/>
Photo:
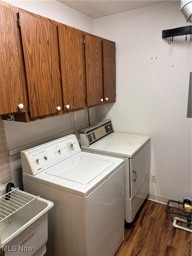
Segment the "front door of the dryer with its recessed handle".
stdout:
<path fill-rule="evenodd" d="M 131 199 L 149 193 L 150 141 L 130 159 Z"/>

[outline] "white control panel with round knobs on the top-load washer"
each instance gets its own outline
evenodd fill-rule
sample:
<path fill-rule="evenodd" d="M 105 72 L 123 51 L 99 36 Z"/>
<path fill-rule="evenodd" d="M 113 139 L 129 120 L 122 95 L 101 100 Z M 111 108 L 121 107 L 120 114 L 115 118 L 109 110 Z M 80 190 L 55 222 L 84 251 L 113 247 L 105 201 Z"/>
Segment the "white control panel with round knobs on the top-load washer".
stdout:
<path fill-rule="evenodd" d="M 75 135 L 71 134 L 37 147 L 21 151 L 23 172 L 35 175 L 81 152 Z"/>

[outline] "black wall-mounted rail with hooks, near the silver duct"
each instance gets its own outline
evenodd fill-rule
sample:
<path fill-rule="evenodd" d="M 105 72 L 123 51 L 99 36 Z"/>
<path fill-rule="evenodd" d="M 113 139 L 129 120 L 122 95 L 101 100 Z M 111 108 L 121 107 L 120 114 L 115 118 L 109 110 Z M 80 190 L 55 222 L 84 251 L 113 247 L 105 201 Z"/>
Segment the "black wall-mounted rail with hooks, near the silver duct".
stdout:
<path fill-rule="evenodd" d="M 174 36 L 184 36 L 184 35 L 190 35 L 192 31 L 192 26 L 185 26 L 180 28 L 173 28 L 173 29 L 167 29 L 162 30 L 162 38 L 170 37 L 172 36 L 172 41 Z M 171 40 L 170 40 L 171 43 Z M 170 44 L 168 41 L 168 44 Z"/>

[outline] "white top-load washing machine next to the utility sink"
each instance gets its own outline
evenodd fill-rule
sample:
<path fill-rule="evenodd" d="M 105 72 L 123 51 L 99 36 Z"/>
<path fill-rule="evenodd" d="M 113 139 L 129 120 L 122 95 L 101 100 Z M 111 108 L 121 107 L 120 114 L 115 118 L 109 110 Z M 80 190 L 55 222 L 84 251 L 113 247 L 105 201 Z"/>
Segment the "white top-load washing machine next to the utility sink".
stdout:
<path fill-rule="evenodd" d="M 69 135 L 21 152 L 24 190 L 54 202 L 49 255 L 114 255 L 124 240 L 124 160 Z"/>

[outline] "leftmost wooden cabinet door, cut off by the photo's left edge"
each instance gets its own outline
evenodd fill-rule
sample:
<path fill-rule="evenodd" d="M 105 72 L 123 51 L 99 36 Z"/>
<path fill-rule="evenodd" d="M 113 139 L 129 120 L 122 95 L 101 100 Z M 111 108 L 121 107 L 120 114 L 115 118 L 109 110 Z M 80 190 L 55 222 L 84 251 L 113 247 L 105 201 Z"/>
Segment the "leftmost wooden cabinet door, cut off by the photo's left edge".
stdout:
<path fill-rule="evenodd" d="M 23 91 L 11 6 L 0 3 L 0 115 L 19 112 Z M 21 111 L 21 110 L 20 110 Z"/>

